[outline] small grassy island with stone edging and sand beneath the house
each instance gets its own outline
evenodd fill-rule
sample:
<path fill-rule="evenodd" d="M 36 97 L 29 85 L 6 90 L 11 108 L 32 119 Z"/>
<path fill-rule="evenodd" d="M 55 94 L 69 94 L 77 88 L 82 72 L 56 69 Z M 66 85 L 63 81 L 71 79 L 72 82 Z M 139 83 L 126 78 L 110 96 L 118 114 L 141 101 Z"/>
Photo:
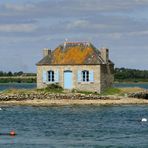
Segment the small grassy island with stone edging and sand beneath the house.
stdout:
<path fill-rule="evenodd" d="M 136 92 L 136 93 L 135 93 Z M 0 105 L 65 106 L 148 104 L 148 91 L 142 88 L 108 88 L 101 94 L 66 91 L 52 84 L 44 89 L 10 89 L 0 92 Z"/>

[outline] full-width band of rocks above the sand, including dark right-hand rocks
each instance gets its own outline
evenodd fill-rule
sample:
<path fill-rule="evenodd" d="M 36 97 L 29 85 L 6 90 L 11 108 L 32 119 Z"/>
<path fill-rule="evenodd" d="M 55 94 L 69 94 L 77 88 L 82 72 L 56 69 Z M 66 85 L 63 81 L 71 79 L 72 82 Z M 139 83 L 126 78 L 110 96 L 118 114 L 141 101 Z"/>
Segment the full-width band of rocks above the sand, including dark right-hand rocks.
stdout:
<path fill-rule="evenodd" d="M 81 94 L 81 93 L 46 93 L 46 92 L 32 92 L 32 93 L 22 93 L 22 94 L 0 94 L 0 101 L 22 101 L 22 100 L 34 100 L 34 99 L 49 99 L 49 100 L 119 100 L 124 98 L 138 98 L 138 99 L 148 99 L 148 91 L 140 91 L 125 94 L 124 96 L 119 95 L 95 95 L 95 94 Z"/>

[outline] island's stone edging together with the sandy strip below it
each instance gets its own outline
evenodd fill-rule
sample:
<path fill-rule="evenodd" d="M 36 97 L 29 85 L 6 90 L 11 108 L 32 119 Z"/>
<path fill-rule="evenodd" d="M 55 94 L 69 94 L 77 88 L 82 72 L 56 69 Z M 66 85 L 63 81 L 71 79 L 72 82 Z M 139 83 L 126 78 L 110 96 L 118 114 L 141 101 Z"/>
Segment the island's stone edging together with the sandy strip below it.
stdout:
<path fill-rule="evenodd" d="M 122 96 L 81 94 L 81 93 L 49 93 L 27 91 L 0 93 L 1 106 L 63 106 L 63 105 L 141 105 L 148 104 L 148 91 L 124 93 Z"/>

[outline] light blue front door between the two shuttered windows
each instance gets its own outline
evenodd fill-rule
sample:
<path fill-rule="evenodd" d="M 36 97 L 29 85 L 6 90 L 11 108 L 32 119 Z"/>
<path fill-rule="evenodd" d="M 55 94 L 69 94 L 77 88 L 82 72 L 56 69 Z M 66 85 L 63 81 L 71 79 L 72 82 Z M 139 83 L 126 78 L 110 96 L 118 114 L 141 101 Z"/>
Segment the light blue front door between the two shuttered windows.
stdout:
<path fill-rule="evenodd" d="M 64 71 L 64 89 L 72 89 L 72 71 Z"/>

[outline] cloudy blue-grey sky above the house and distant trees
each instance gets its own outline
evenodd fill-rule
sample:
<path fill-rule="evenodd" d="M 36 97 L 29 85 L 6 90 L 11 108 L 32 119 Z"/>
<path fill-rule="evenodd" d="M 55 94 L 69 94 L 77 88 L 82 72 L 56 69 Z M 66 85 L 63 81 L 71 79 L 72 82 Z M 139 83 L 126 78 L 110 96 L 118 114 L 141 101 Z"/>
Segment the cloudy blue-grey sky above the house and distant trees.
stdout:
<path fill-rule="evenodd" d="M 148 0 L 0 0 L 0 71 L 36 72 L 65 39 L 107 47 L 115 67 L 148 69 Z"/>

